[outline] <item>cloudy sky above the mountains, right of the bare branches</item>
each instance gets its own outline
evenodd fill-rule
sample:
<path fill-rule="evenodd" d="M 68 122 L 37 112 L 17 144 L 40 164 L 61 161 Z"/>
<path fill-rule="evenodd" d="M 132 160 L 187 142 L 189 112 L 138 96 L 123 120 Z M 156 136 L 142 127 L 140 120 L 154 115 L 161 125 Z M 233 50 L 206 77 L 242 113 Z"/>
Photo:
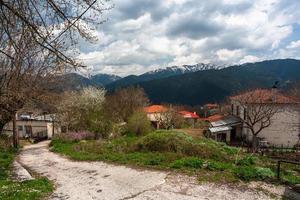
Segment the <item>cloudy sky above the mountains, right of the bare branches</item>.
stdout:
<path fill-rule="evenodd" d="M 299 0 L 113 0 L 97 40 L 80 40 L 89 73 L 300 59 Z"/>

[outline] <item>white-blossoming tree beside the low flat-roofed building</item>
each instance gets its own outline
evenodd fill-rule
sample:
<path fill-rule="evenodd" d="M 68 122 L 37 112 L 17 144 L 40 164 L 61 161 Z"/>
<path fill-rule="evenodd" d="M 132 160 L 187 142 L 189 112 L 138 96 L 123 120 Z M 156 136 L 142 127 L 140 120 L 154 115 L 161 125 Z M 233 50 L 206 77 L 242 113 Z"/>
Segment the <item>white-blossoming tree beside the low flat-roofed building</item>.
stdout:
<path fill-rule="evenodd" d="M 101 88 L 88 87 L 81 91 L 65 92 L 57 107 L 61 125 L 68 130 L 89 130 L 107 135 L 109 127 L 104 118 L 104 100 L 105 90 Z"/>

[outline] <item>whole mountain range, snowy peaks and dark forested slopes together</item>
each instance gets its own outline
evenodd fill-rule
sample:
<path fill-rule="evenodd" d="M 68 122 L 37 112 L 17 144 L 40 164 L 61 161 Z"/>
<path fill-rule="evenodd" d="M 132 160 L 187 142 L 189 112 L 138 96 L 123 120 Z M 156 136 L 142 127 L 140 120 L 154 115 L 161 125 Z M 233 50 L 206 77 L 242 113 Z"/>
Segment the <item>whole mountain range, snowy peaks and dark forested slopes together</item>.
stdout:
<path fill-rule="evenodd" d="M 211 64 L 173 66 L 124 78 L 106 74 L 91 78 L 78 74 L 68 76 L 66 80 L 72 79 L 75 88 L 93 85 L 114 91 L 138 85 L 144 88 L 153 103 L 202 105 L 224 101 L 229 95 L 251 88 L 271 88 L 275 82 L 279 82 L 281 88 L 287 88 L 300 80 L 300 61 L 278 59 L 230 67 Z"/>

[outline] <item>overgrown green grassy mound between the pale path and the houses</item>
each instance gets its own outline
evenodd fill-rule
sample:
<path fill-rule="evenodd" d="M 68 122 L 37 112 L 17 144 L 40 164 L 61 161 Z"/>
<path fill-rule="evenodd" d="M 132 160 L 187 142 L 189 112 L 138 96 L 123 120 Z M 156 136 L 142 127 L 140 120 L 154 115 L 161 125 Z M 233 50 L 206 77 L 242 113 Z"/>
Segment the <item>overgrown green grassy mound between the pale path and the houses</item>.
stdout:
<path fill-rule="evenodd" d="M 146 136 L 126 135 L 106 141 L 54 139 L 52 151 L 83 161 L 107 161 L 137 167 L 174 170 L 196 175 L 199 181 L 276 182 L 276 162 L 247 154 L 206 138 L 192 138 L 178 131 L 156 131 Z M 300 183 L 300 167 L 283 166 L 282 182 Z"/>

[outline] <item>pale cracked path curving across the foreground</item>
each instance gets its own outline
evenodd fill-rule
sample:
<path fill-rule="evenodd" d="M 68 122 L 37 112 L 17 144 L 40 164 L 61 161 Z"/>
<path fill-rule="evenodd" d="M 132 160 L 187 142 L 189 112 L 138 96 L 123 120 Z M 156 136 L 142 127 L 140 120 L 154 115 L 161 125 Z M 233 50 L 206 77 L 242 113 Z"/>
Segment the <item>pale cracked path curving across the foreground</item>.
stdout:
<path fill-rule="evenodd" d="M 261 191 L 197 184 L 187 176 L 136 170 L 103 162 L 76 162 L 48 150 L 49 142 L 26 146 L 19 162 L 50 180 L 50 199 L 270 199 Z"/>

